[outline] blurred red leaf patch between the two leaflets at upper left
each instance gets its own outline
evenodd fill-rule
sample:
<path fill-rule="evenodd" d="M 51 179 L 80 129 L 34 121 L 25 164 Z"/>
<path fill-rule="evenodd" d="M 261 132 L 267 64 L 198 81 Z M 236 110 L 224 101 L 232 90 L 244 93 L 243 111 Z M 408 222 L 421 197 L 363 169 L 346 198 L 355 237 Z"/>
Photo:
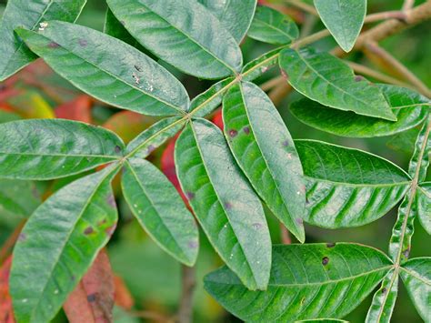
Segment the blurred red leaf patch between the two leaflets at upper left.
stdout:
<path fill-rule="evenodd" d="M 76 96 L 72 101 L 55 108 L 55 116 L 90 124 L 92 99 L 90 96 Z"/>

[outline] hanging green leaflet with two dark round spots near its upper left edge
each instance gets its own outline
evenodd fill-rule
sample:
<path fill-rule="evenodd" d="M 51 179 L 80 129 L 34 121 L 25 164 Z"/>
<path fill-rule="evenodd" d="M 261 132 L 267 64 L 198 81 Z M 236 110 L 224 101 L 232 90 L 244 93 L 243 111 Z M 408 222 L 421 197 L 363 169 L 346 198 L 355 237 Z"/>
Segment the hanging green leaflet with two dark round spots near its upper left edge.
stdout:
<path fill-rule="evenodd" d="M 239 167 L 275 216 L 304 242 L 303 170 L 276 106 L 258 86 L 236 84 L 224 97 L 223 120 Z"/>

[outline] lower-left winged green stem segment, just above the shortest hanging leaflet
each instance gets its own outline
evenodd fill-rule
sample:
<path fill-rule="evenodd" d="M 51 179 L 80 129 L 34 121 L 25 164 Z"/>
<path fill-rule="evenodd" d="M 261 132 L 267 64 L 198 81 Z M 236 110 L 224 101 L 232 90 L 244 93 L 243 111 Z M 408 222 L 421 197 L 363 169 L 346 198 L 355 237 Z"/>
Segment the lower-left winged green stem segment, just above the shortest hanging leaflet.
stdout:
<path fill-rule="evenodd" d="M 184 125 L 185 120 L 178 116 L 167 117 L 156 122 L 127 145 L 126 155 L 146 158 L 155 148 L 162 146 L 168 139 L 175 136 Z"/>

